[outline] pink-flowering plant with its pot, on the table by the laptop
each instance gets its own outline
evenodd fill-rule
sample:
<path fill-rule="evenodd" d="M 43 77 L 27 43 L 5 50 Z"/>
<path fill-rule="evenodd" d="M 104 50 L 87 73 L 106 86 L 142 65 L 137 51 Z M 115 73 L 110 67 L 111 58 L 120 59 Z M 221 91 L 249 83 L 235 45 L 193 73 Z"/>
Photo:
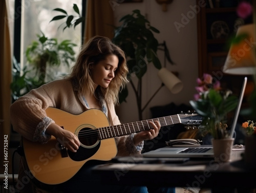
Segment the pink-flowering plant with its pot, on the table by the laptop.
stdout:
<path fill-rule="evenodd" d="M 215 155 L 222 155 L 223 152 L 218 150 L 227 149 L 223 147 L 223 143 L 229 142 L 229 149 L 233 144 L 233 138 L 229 138 L 227 128 L 227 115 L 234 110 L 238 103 L 238 98 L 232 95 L 230 90 L 223 90 L 220 87 L 220 81 L 212 78 L 210 74 L 204 74 L 203 78 L 197 79 L 198 93 L 195 95 L 195 100 L 189 101 L 193 109 L 203 117 L 202 123 L 199 126 L 200 132 L 204 136 L 210 134 L 212 136 L 212 145 Z M 220 148 L 216 144 L 221 144 Z M 227 144 L 228 145 L 228 144 Z M 218 157 L 218 156 L 216 156 Z M 228 161 L 228 156 L 222 156 L 220 161 Z"/>

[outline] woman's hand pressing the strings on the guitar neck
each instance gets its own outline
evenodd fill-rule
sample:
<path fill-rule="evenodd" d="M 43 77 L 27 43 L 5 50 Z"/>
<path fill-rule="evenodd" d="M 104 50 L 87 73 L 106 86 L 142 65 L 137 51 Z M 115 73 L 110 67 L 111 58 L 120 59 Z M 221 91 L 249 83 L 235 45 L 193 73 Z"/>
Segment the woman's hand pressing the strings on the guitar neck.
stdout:
<path fill-rule="evenodd" d="M 142 131 L 134 135 L 133 141 L 136 146 L 143 140 L 154 139 L 155 137 L 157 137 L 161 127 L 159 121 L 155 121 L 154 123 L 152 121 L 149 121 L 149 123 L 153 126 L 152 129 Z"/>

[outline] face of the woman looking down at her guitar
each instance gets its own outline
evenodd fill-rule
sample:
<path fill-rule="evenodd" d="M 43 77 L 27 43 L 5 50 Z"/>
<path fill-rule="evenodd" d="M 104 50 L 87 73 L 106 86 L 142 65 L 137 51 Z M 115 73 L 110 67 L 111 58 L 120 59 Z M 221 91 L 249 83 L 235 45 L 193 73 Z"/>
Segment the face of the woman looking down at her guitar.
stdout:
<path fill-rule="evenodd" d="M 108 88 L 111 80 L 115 77 L 115 71 L 118 67 L 118 57 L 108 55 L 104 60 L 99 61 L 91 69 L 92 80 L 95 83 L 94 89 L 100 85 Z"/>

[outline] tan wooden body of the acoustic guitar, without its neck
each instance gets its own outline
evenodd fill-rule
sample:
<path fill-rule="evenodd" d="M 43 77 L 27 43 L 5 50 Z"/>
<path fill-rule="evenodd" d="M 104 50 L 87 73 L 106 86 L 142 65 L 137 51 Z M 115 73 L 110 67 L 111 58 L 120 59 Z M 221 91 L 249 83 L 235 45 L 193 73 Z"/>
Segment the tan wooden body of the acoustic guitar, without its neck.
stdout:
<path fill-rule="evenodd" d="M 97 109 L 90 109 L 79 115 L 48 108 L 47 115 L 64 130 L 78 136 L 81 143 L 76 153 L 67 151 L 60 142 L 62 139 L 51 137 L 45 144 L 23 138 L 27 165 L 36 180 L 45 184 L 60 184 L 71 179 L 89 160 L 109 161 L 117 154 L 114 138 L 99 140 L 96 128 L 109 126 L 108 118 Z M 86 139 L 84 132 L 94 134 Z M 96 134 L 96 135 L 95 135 Z M 65 144 L 65 141 L 62 141 Z"/>

